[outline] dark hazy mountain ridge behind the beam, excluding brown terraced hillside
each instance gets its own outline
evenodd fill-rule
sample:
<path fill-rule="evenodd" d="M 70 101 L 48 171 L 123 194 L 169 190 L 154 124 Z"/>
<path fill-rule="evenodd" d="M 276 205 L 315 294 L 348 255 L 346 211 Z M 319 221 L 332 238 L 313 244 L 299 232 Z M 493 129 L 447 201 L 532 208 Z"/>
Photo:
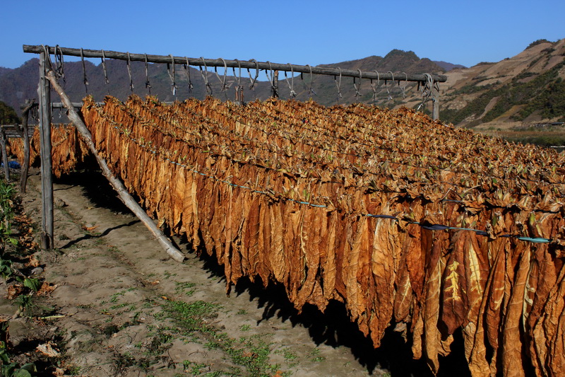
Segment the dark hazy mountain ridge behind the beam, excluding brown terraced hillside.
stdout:
<path fill-rule="evenodd" d="M 0 69 L 0 100 L 16 108 L 18 112 L 20 105 L 25 102 L 26 98 L 37 98 L 38 62 L 39 59 L 33 58 L 16 69 Z M 434 64 L 430 59 L 420 59 L 414 52 L 404 52 L 402 50 L 392 50 L 385 57 L 371 56 L 346 62 L 320 64 L 319 66 L 340 66 L 342 69 L 361 69 L 362 71 L 393 71 L 399 76 L 402 76 L 403 72 L 407 74 L 422 72 L 444 73 L 444 69 Z M 167 72 L 166 64 L 148 64 L 147 80 L 145 78 L 145 64 L 143 62 L 131 62 L 133 93 L 141 96 L 148 94 L 156 95 L 163 101 L 182 100 L 189 96 L 205 98 L 208 94 L 205 81 L 208 81 L 213 95 L 217 95 L 221 99 L 234 100 L 234 88 L 238 82 L 244 86 L 244 100 L 246 101 L 255 99 L 265 100 L 272 93 L 270 82 L 264 80 L 256 81 L 251 90 L 251 81 L 248 76 L 254 76 L 255 72 L 253 69 L 251 69 L 251 72 L 242 69 L 241 78 L 233 76 L 233 71 L 228 69 L 227 81 L 230 89 L 224 93 L 222 92 L 222 82 L 215 77 L 215 72 L 212 69 L 209 69 L 208 73 L 206 73 L 206 71 L 201 71 L 194 67 L 189 69 L 189 76 L 193 86 L 191 91 L 189 91 L 189 76 L 186 74 L 186 69 L 179 64 L 175 68 L 176 93 L 173 95 L 172 82 L 169 79 L 171 72 Z M 63 86 L 73 101 L 80 101 L 87 92 L 93 95 L 95 100 L 103 100 L 108 93 L 125 100 L 131 93 L 126 62 L 113 59 L 106 60 L 109 84 L 105 84 L 102 64 L 95 65 L 86 60 L 85 71 L 85 76 L 88 80 L 86 88 L 83 83 L 84 73 L 81 62 L 64 63 Z M 146 81 L 149 81 L 150 88 L 145 85 Z M 297 100 L 307 100 L 313 97 L 314 100 L 323 105 L 335 105 L 338 102 L 342 104 L 352 103 L 357 100 L 370 99 L 371 97 L 365 95 L 365 98 L 359 98 L 359 95 L 356 96 L 355 88 L 352 85 L 352 78 L 343 78 L 340 88 L 338 88 L 336 81 L 331 76 L 314 75 L 312 79 L 309 74 L 295 74 L 295 77 L 292 78 L 290 73 L 287 73 L 285 76 L 284 72 L 282 72 L 279 75 L 279 93 L 281 98 L 288 98 L 292 89 L 292 91 L 297 93 Z M 364 91 L 369 87 L 366 82 L 366 80 L 363 80 L 361 84 Z M 338 98 L 338 89 L 341 94 L 340 98 Z M 393 88 L 393 91 L 400 93 L 398 88 Z M 53 98 L 57 98 L 57 95 Z"/>

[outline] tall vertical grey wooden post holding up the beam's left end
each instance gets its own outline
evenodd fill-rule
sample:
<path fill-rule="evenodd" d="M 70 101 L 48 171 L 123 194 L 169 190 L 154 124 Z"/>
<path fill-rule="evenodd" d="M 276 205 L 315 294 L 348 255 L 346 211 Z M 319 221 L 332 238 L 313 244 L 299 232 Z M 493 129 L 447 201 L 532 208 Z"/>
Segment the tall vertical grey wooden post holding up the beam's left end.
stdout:
<path fill-rule="evenodd" d="M 41 248 L 51 250 L 53 248 L 53 175 L 51 159 L 51 86 L 45 77 L 47 71 L 47 59 L 49 57 L 42 52 L 40 54 L 40 83 L 37 94 L 40 98 L 40 144 L 41 144 L 41 196 L 42 196 L 42 234 Z"/>

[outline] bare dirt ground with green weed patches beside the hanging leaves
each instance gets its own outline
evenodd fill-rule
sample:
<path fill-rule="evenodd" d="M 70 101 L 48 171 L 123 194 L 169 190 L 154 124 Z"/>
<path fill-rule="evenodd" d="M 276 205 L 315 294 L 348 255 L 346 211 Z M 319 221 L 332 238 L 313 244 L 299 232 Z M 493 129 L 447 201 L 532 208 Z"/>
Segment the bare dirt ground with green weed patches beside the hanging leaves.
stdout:
<path fill-rule="evenodd" d="M 54 197 L 55 250 L 35 253 L 35 273 L 55 289 L 8 328 L 20 364 L 52 347 L 36 361 L 40 376 L 430 375 L 394 332 L 375 350 L 340 303 L 297 313 L 280 286 L 246 279 L 227 296 L 213 258 L 174 238 L 187 259 L 169 259 L 102 175 L 57 180 Z M 37 172 L 21 203 L 40 224 Z M 0 282 L 4 318 L 18 309 L 8 285 Z"/>

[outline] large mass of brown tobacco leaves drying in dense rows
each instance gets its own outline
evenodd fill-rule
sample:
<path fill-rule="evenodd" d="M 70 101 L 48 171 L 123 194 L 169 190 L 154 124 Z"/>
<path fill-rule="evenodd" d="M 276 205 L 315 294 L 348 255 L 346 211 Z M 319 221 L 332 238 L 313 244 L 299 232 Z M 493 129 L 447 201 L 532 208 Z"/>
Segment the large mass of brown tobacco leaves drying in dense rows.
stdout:
<path fill-rule="evenodd" d="M 218 258 L 227 289 L 342 301 L 375 347 L 394 325 L 434 373 L 458 329 L 473 376 L 565 373 L 563 153 L 405 108 L 132 96 L 82 111 L 114 173 Z"/>

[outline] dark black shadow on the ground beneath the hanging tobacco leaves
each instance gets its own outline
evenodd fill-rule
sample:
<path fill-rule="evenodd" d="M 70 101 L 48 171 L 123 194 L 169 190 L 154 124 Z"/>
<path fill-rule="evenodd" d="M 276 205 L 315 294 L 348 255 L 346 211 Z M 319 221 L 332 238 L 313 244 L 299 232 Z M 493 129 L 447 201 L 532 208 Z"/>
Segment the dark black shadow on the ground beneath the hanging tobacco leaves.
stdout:
<path fill-rule="evenodd" d="M 58 182 L 83 187 L 85 196 L 97 207 L 104 207 L 117 213 L 131 213 L 118 199 L 106 178 L 99 172 L 73 173 L 59 179 Z M 136 221 L 130 224 L 134 222 Z M 105 233 L 109 231 L 112 229 L 108 229 Z M 73 242 L 76 243 L 78 240 Z M 185 253 L 194 253 L 184 241 L 181 241 L 179 246 Z M 205 271 L 203 273 L 210 274 L 210 277 L 224 279 L 224 269 L 218 265 L 215 257 L 208 256 L 203 250 L 200 255 L 204 262 Z M 371 340 L 359 331 L 355 323 L 350 321 L 343 303 L 331 301 L 324 313 L 321 313 L 315 306 L 307 305 L 302 308 L 302 313 L 298 313 L 288 300 L 284 287 L 280 284 L 270 283 L 267 288 L 264 288 L 259 278 L 256 279 L 256 282 L 242 278 L 232 289 L 232 294 L 239 295 L 244 291 L 249 292 L 250 300 L 256 299 L 258 307 L 263 308 L 261 320 L 278 318 L 290 321 L 293 326 L 300 325 L 307 328 L 311 339 L 316 344 L 347 347 L 369 373 L 373 373 L 376 368 L 381 368 L 390 371 L 392 377 L 434 376 L 425 361 L 412 359 L 410 339 L 404 342 L 400 333 L 394 332 L 392 327 L 386 330 L 381 347 L 374 349 Z M 455 337 L 456 340 L 451 344 L 451 354 L 440 357 L 440 369 L 437 374 L 439 377 L 470 376 L 463 354 L 463 337 L 460 332 L 456 333 Z"/>

